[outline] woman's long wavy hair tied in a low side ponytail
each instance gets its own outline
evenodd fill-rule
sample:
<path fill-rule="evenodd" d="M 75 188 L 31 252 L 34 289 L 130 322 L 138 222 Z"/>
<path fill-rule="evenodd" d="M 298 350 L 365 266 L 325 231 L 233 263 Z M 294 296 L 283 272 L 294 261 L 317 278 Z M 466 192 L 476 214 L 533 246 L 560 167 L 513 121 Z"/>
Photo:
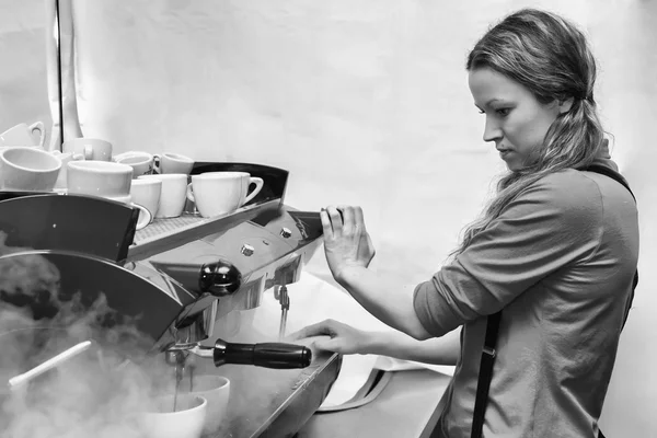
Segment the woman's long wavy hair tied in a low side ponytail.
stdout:
<path fill-rule="evenodd" d="M 596 60 L 585 35 L 550 12 L 523 9 L 491 28 L 468 56 L 466 70 L 488 68 L 527 88 L 542 104 L 573 100 L 542 146 L 519 171 L 505 174 L 480 219 L 468 226 L 452 256 L 462 253 L 525 188 L 564 169 L 583 169 L 600 153 L 604 130 L 593 85 Z"/>

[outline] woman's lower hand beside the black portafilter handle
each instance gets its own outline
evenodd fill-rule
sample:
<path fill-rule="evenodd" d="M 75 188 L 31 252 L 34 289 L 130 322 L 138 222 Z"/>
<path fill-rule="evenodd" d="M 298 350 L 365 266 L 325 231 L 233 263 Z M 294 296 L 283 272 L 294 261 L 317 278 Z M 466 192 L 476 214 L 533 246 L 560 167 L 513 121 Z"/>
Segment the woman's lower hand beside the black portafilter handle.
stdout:
<path fill-rule="evenodd" d="M 367 348 L 373 334 L 334 320 L 325 320 L 292 333 L 288 339 L 295 342 L 312 336 L 328 336 L 327 338 L 322 337 L 313 342 L 313 345 L 318 349 L 343 355 L 365 355 L 368 354 Z"/>

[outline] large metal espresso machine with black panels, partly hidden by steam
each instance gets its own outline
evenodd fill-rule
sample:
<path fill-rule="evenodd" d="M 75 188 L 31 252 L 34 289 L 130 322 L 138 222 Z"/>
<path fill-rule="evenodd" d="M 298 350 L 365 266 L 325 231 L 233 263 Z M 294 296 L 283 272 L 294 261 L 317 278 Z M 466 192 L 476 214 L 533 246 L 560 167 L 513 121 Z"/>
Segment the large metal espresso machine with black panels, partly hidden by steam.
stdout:
<path fill-rule="evenodd" d="M 176 385 L 192 372 L 230 379 L 228 418 L 208 436 L 292 437 L 320 406 L 341 365 L 337 355 L 284 342 L 287 286 L 299 280 L 321 243 L 319 214 L 284 204 L 288 173 L 281 169 L 198 162 L 192 174 L 209 171 L 249 172 L 264 186 L 233 214 L 206 219 L 189 205 L 183 216 L 155 219 L 139 231 L 139 210 L 123 204 L 0 192 L 0 304 L 32 315 L 15 323 L 21 327 L 0 323 L 0 347 L 3 330 L 43 326 L 57 320 L 58 303 L 93 309 L 102 296 L 111 312 L 94 320 L 96 333 L 130 323 L 138 334 L 128 350 L 135 360 L 161 359 Z M 235 312 L 257 308 L 266 293 L 280 303 L 278 333 L 269 339 L 238 343 L 217 330 Z M 249 333 L 250 325 L 257 321 L 239 330 Z"/>

